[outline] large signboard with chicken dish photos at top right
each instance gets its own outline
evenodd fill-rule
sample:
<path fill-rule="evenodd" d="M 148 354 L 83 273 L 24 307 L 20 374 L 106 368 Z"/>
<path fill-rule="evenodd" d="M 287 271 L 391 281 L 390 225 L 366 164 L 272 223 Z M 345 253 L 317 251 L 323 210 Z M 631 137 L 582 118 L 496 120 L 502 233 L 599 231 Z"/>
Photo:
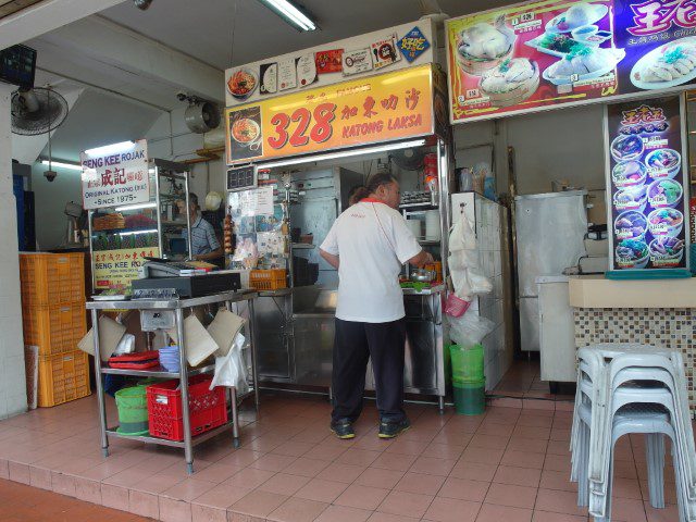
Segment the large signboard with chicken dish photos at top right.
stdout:
<path fill-rule="evenodd" d="M 446 22 L 452 123 L 679 90 L 694 0 L 547 0 Z"/>

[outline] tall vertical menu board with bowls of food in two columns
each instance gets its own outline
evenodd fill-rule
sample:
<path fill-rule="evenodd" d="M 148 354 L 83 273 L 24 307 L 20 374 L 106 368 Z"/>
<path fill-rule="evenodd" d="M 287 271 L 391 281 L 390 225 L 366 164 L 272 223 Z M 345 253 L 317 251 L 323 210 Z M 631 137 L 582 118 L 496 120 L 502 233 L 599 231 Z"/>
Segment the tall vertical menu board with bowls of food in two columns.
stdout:
<path fill-rule="evenodd" d="M 686 266 L 680 97 L 607 107 L 612 266 Z"/>

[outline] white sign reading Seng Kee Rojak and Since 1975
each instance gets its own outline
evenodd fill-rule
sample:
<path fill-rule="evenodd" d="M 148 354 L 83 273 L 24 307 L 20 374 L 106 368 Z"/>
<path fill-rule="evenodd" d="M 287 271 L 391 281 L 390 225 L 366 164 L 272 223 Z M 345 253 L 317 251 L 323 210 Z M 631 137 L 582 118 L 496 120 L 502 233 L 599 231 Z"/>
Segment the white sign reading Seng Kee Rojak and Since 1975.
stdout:
<path fill-rule="evenodd" d="M 148 144 L 140 139 L 119 152 L 79 154 L 83 166 L 83 207 L 87 210 L 150 200 Z"/>

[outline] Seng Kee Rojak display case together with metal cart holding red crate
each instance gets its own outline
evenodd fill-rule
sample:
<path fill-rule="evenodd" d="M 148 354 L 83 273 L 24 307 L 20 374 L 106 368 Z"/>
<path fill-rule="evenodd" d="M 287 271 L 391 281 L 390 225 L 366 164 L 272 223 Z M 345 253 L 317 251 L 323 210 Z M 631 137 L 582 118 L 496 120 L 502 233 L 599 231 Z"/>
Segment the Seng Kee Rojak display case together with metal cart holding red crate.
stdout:
<path fill-rule="evenodd" d="M 232 430 L 239 447 L 237 407 L 253 395 L 258 409 L 257 294 L 190 261 L 187 165 L 149 159 L 146 140 L 80 156 L 98 294 L 78 347 L 95 356 L 102 452 L 111 438 L 181 448 L 192 473 L 195 446 Z"/>

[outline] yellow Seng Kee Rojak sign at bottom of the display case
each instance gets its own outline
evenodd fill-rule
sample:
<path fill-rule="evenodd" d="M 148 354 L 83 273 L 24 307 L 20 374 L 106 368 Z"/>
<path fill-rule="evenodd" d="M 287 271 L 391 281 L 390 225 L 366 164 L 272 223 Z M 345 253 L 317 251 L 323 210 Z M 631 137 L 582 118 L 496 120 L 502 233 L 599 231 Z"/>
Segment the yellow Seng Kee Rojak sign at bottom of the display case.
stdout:
<path fill-rule="evenodd" d="M 130 286 L 139 277 L 138 271 L 145 258 L 159 258 L 158 247 L 122 248 L 92 253 L 95 286 L 99 290 Z"/>

